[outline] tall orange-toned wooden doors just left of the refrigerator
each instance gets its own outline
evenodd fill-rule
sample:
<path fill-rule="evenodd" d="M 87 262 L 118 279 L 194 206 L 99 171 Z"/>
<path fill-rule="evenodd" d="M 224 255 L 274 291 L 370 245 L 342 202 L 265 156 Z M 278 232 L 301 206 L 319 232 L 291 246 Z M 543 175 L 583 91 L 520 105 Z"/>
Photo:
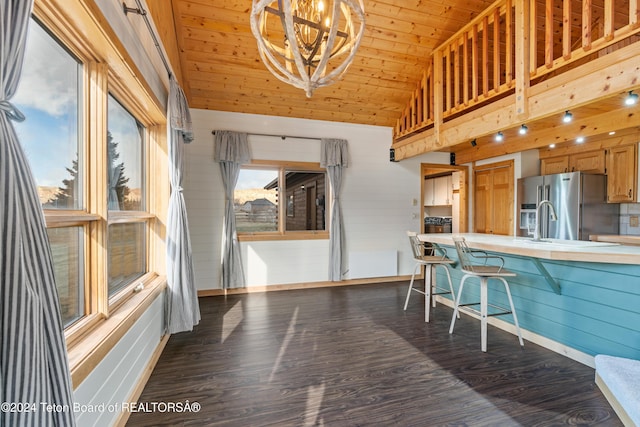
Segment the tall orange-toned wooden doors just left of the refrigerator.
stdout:
<path fill-rule="evenodd" d="M 483 165 L 474 176 L 474 231 L 513 234 L 513 161 Z"/>

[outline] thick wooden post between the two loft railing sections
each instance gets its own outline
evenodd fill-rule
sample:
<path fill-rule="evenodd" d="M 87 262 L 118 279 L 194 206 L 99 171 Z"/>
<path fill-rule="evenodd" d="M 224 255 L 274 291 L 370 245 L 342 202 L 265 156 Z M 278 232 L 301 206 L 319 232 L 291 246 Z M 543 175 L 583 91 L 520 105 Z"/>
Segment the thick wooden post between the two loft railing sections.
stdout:
<path fill-rule="evenodd" d="M 529 116 L 529 43 L 530 33 L 530 3 L 528 1 L 515 2 L 516 7 L 516 115 L 518 119 L 524 120 Z M 535 31 L 535 27 L 531 29 Z"/>

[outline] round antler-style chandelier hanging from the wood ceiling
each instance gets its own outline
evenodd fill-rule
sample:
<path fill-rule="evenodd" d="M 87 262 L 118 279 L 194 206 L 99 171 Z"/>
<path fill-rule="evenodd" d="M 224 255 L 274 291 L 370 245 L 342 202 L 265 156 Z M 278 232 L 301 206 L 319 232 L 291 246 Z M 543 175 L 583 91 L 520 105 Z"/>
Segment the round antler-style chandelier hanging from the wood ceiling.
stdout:
<path fill-rule="evenodd" d="M 269 71 L 310 98 L 353 61 L 364 7 L 362 0 L 253 0 L 251 31 Z"/>

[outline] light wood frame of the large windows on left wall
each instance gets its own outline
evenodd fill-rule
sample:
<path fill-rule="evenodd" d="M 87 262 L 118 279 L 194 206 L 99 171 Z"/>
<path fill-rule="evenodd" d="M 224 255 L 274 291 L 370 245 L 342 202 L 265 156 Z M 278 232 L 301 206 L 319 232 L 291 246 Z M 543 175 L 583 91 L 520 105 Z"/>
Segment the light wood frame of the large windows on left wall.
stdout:
<path fill-rule="evenodd" d="M 154 171 L 168 170 L 165 107 L 140 78 L 140 71 L 129 54 L 110 41 L 114 34 L 95 19 L 99 12 L 87 9 L 81 3 L 68 5 L 62 0 L 36 0 L 32 12 L 32 19 L 74 56 L 82 69 L 82 105 L 78 112 L 82 145 L 78 160 L 82 156 L 82 161 L 78 173 L 84 178 L 83 207 L 81 210 L 44 210 L 47 228 L 81 226 L 85 231 L 84 316 L 65 328 L 75 385 L 108 353 L 117 342 L 116 337 L 126 333 L 132 319 L 140 316 L 166 287 L 163 236 L 170 192 L 168 172 L 151 176 L 149 167 L 154 165 Z M 136 218 L 125 215 L 114 222 L 142 221 L 147 224 L 147 272 L 111 298 L 107 280 L 107 197 L 102 197 L 100 192 L 107 187 L 109 93 L 146 129 L 146 210 L 136 211 Z M 139 283 L 144 285 L 142 291 L 136 289 Z"/>

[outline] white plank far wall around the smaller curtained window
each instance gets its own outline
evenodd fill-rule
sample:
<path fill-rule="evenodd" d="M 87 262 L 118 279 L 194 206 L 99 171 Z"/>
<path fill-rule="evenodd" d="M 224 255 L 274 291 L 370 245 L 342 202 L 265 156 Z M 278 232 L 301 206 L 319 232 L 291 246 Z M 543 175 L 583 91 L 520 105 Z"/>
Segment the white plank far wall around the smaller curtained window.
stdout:
<path fill-rule="evenodd" d="M 433 153 L 398 163 L 389 161 L 391 128 L 252 114 L 192 110 L 195 141 L 186 148 L 184 195 L 189 215 L 198 289 L 220 288 L 220 247 L 224 193 L 213 161 L 216 129 L 248 133 L 343 138 L 349 142 L 342 214 L 345 253 L 398 253 L 399 275 L 413 264 L 406 230 L 420 230 L 420 163 L 446 163 L 448 155 Z M 320 142 L 250 136 L 254 159 L 320 161 Z M 328 240 L 242 243 L 248 286 L 322 282 L 328 278 Z M 347 259 L 347 269 L 349 260 Z M 348 279 L 349 272 L 344 276 Z"/>

